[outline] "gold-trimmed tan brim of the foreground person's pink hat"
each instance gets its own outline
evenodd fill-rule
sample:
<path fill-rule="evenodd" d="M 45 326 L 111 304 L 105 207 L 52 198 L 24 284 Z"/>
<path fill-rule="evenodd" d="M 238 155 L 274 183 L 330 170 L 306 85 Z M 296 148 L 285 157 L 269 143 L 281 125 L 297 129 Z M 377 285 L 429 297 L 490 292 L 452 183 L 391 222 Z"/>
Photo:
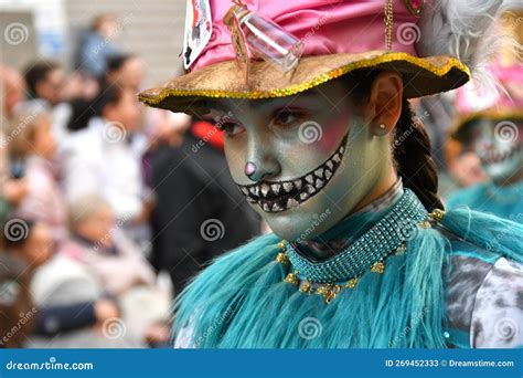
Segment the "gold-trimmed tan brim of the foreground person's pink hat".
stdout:
<path fill-rule="evenodd" d="M 220 62 L 177 77 L 138 95 L 142 103 L 192 115 L 206 113 L 205 98 L 262 99 L 285 97 L 360 69 L 392 70 L 402 74 L 407 98 L 423 97 L 463 85 L 469 69 L 451 56 L 417 57 L 407 53 L 365 53 L 307 56 L 289 73 L 265 61 L 252 61 L 248 84 L 235 61 Z"/>

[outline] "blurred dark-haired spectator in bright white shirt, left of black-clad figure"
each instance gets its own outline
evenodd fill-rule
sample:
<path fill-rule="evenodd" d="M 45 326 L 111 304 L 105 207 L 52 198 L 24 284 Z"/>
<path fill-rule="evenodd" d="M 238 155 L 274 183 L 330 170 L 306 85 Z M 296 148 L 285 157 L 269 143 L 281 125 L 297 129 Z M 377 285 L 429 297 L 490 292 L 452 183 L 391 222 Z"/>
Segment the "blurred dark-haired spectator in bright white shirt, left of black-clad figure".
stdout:
<path fill-rule="evenodd" d="M 68 201 L 99 192 L 122 228 L 143 225 L 151 203 L 146 199 L 139 154 L 132 133 L 139 126 L 136 96 L 117 86 L 104 88 L 93 104 L 102 117 L 71 135 L 63 148 L 64 187 Z"/>

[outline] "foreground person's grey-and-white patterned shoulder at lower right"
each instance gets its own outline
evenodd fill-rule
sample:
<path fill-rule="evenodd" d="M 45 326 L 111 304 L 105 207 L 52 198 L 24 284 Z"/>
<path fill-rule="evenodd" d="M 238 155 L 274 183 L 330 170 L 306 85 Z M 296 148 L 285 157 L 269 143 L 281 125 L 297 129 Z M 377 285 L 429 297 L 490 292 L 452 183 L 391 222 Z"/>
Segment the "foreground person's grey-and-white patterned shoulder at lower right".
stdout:
<path fill-rule="evenodd" d="M 474 348 L 523 345 L 523 333 L 517 334 L 516 326 L 523 324 L 522 264 L 457 237 L 449 241 L 446 305 L 450 344 Z"/>

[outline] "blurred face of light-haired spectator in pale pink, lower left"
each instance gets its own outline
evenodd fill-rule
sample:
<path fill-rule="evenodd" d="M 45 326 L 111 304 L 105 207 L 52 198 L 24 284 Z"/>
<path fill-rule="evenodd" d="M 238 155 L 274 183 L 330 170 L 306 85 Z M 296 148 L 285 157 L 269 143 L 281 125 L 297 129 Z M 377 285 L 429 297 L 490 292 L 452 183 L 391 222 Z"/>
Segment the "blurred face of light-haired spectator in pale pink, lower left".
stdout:
<path fill-rule="evenodd" d="M 113 246 L 113 229 L 115 227 L 115 216 L 109 206 L 103 206 L 86 219 L 75 224 L 74 231 L 103 248 Z"/>

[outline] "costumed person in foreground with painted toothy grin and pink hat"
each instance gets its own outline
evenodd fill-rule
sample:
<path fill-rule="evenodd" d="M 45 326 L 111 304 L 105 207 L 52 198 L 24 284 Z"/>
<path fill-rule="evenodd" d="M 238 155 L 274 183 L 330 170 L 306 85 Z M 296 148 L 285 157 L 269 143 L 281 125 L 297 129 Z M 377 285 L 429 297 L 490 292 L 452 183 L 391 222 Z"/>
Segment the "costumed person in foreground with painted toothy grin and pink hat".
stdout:
<path fill-rule="evenodd" d="M 184 54 L 191 72 L 139 98 L 227 115 L 232 177 L 274 233 L 184 290 L 175 346 L 523 345 L 523 228 L 442 210 L 408 104 L 469 80 L 500 2 L 207 6 L 214 38 Z"/>

